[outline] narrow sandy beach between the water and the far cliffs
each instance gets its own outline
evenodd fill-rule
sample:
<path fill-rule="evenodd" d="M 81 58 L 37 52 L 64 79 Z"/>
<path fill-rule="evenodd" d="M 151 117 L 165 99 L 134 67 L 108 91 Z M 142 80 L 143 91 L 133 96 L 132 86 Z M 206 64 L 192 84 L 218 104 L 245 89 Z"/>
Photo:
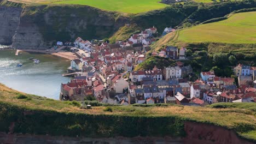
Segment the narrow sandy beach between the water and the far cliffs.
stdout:
<path fill-rule="evenodd" d="M 45 50 L 31 50 L 31 49 L 18 50 L 18 51 L 46 53 L 46 54 L 50 54 L 50 55 L 67 58 L 69 60 L 78 58 L 76 55 L 73 55 L 72 52 L 66 52 L 66 51 L 55 52 L 54 50 L 50 50 L 50 51 L 46 52 Z"/>

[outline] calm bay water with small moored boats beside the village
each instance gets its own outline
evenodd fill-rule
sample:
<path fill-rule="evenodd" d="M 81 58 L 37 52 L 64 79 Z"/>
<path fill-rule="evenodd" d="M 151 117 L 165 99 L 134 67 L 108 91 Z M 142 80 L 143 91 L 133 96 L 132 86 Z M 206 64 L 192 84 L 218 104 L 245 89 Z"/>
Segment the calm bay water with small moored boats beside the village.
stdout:
<path fill-rule="evenodd" d="M 34 64 L 33 57 L 40 63 Z M 16 67 L 23 63 L 22 67 Z M 21 92 L 59 99 L 61 83 L 70 78 L 63 77 L 70 62 L 53 55 L 22 52 L 15 56 L 14 50 L 0 50 L 0 83 Z"/>

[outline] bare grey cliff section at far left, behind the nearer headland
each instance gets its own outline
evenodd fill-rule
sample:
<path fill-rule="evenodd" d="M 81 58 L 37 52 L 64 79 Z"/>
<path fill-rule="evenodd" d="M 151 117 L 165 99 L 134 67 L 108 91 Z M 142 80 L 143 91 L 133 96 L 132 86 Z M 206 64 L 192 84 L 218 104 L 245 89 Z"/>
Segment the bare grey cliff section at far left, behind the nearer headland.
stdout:
<path fill-rule="evenodd" d="M 0 44 L 10 45 L 19 25 L 22 8 L 0 6 Z"/>

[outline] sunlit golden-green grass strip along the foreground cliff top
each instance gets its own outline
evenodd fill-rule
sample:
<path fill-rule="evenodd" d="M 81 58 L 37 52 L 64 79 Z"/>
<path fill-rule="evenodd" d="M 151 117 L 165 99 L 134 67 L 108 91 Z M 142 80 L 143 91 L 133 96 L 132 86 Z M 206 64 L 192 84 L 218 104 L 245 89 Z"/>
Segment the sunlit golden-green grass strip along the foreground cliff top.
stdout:
<path fill-rule="evenodd" d="M 207 107 L 181 105 L 162 106 L 93 106 L 80 109 L 77 103 L 58 101 L 15 91 L 0 85 L 0 103 L 29 110 L 45 110 L 61 113 L 89 115 L 113 115 L 126 117 L 179 117 L 185 121 L 210 123 L 235 130 L 240 136 L 256 140 L 256 104 L 216 104 Z M 219 109 L 216 109 L 219 108 Z M 107 110 L 106 110 L 107 109 Z M 0 113 L 1 114 L 1 113 Z"/>

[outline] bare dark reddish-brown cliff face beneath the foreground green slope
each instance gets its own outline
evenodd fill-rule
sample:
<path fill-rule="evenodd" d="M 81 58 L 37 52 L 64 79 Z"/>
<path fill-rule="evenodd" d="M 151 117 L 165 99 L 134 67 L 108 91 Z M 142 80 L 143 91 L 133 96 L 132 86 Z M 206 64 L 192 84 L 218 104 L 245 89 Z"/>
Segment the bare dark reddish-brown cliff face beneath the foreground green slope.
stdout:
<path fill-rule="evenodd" d="M 12 133 L 14 124 L 9 128 L 9 133 L 0 132 L 0 141 L 3 143 L 234 143 L 250 144 L 251 142 L 239 139 L 234 131 L 227 130 L 214 125 L 185 122 L 184 130 L 187 136 L 181 138 L 173 137 L 113 137 L 113 138 L 90 138 L 90 137 L 68 137 Z"/>

